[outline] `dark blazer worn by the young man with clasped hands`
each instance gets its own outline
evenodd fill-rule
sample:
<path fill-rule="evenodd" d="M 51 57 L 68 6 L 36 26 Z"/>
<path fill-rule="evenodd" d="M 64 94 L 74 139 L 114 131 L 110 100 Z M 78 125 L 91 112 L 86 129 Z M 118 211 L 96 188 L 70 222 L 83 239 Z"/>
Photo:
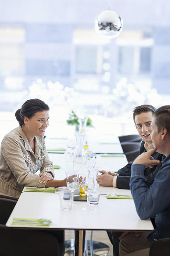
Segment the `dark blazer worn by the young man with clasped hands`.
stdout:
<path fill-rule="evenodd" d="M 142 154 L 143 152 L 146 152 L 146 149 L 144 148 L 144 141 L 142 140 L 139 154 Z M 154 159 L 162 160 L 162 154 L 159 154 L 158 152 L 154 152 L 152 154 L 152 157 Z M 119 176 L 116 179 L 116 187 L 118 189 L 130 189 L 129 188 L 129 182 L 130 182 L 130 175 L 131 175 L 131 163 L 128 163 L 126 166 L 124 166 L 122 169 L 119 169 L 118 172 Z M 150 186 L 153 183 L 154 177 L 157 174 L 159 168 L 161 167 L 161 163 L 159 165 L 153 166 L 153 168 L 147 167 L 144 170 L 144 175 L 147 179 L 147 186 Z"/>

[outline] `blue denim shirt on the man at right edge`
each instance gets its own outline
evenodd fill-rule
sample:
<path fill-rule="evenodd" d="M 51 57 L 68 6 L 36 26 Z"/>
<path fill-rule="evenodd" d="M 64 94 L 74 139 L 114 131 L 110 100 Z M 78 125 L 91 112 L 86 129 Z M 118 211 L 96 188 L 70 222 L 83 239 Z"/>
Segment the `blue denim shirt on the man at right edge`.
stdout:
<path fill-rule="evenodd" d="M 170 155 L 164 157 L 162 166 L 150 188 L 146 185 L 144 165 L 131 167 L 130 190 L 141 219 L 156 215 L 156 230 L 148 237 L 151 241 L 170 237 Z"/>

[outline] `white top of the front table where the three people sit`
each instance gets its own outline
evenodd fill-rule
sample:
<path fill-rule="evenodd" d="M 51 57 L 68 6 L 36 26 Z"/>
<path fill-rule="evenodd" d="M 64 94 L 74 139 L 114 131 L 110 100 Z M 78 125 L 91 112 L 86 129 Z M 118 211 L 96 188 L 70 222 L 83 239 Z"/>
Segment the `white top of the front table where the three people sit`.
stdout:
<path fill-rule="evenodd" d="M 64 190 L 65 188 L 60 188 Z M 130 195 L 130 190 L 101 187 L 102 194 L 116 193 Z M 100 195 L 99 204 L 92 205 L 93 211 L 82 211 L 86 202 L 77 202 L 77 207 L 62 211 L 59 193 L 23 192 L 9 217 L 6 226 L 11 225 L 13 218 L 48 218 L 50 226 L 22 226 L 22 228 L 71 229 L 71 230 L 153 230 L 150 219 L 141 220 L 136 213 L 132 199 L 107 199 Z"/>

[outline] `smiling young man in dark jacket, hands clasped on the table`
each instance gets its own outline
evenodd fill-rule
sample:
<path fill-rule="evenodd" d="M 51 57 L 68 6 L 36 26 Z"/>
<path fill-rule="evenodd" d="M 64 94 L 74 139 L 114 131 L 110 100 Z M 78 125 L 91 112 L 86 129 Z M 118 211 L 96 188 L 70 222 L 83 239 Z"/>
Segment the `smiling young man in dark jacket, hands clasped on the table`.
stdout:
<path fill-rule="evenodd" d="M 139 154 L 146 152 L 147 150 L 153 148 L 152 147 L 152 140 L 150 137 L 151 134 L 151 122 L 153 118 L 153 113 L 155 113 L 156 108 L 151 105 L 141 105 L 133 110 L 133 121 L 135 123 L 136 129 L 142 138 L 141 147 L 139 150 Z M 162 154 L 158 152 L 154 152 L 152 157 L 154 159 L 162 160 Z M 100 186 L 113 186 L 119 189 L 130 189 L 129 182 L 130 182 L 130 174 L 131 174 L 131 165 L 127 164 L 122 169 L 119 169 L 118 172 L 111 173 L 100 171 L 102 175 L 98 175 L 97 183 Z M 147 186 L 150 186 L 153 183 L 154 177 L 158 172 L 159 168 L 161 167 L 161 163 L 159 165 L 154 165 L 152 167 L 147 167 L 144 169 L 144 175 L 147 178 Z M 154 218 L 153 218 L 154 224 Z M 119 256 L 119 241 L 124 236 L 122 232 L 107 232 L 111 243 L 113 244 L 113 255 Z M 138 236 L 139 233 L 136 233 Z"/>

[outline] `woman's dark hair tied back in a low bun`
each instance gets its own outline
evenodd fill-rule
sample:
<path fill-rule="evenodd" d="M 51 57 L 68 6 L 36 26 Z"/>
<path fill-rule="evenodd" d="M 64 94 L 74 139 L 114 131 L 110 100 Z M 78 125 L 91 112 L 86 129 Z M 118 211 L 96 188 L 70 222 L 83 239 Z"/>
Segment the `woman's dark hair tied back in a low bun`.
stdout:
<path fill-rule="evenodd" d="M 28 99 L 20 109 L 15 112 L 19 125 L 24 125 L 24 116 L 31 118 L 39 111 L 48 111 L 50 108 L 40 99 Z"/>

